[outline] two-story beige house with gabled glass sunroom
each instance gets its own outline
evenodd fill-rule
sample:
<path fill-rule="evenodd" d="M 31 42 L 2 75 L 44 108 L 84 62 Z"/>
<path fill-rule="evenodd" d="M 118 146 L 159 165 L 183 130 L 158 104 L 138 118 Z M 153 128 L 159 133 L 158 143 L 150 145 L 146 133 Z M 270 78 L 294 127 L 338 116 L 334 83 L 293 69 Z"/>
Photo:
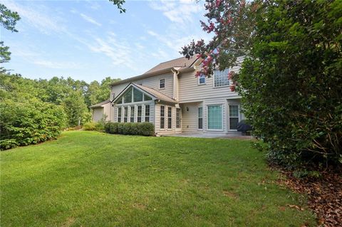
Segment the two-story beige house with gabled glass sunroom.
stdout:
<path fill-rule="evenodd" d="M 244 119 L 239 95 L 230 90 L 229 70 L 195 77 L 197 58 L 177 58 L 111 85 L 111 122 L 152 122 L 158 134 L 236 132 Z"/>

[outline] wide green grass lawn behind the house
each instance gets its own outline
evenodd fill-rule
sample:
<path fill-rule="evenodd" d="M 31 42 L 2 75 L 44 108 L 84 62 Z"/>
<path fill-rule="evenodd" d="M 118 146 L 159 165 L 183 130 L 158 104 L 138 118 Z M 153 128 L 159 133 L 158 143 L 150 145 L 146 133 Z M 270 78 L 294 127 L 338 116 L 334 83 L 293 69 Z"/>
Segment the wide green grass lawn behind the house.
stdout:
<path fill-rule="evenodd" d="M 1 152 L 1 226 L 314 226 L 249 141 L 64 132 Z"/>

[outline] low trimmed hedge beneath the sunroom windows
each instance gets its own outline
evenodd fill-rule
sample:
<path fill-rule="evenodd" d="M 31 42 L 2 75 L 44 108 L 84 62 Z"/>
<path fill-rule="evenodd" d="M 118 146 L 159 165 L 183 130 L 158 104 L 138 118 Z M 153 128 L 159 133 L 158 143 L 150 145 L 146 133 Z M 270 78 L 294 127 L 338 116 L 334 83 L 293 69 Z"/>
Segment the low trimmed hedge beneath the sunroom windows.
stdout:
<path fill-rule="evenodd" d="M 153 134 L 155 134 L 155 126 L 150 122 L 108 122 L 105 124 L 105 132 L 110 134 L 133 134 L 152 136 Z"/>

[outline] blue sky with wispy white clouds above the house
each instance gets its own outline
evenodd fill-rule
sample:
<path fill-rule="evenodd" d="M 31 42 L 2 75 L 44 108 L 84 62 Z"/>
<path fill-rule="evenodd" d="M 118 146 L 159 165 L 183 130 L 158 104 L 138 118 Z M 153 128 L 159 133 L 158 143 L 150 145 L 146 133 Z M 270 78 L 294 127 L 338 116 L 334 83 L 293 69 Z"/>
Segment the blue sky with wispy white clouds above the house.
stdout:
<path fill-rule="evenodd" d="M 209 40 L 199 20 L 203 1 L 126 1 L 120 14 L 109 1 L 7 1 L 21 16 L 0 40 L 10 47 L 11 73 L 25 78 L 63 76 L 75 80 L 130 78 L 182 57 L 192 39 Z"/>

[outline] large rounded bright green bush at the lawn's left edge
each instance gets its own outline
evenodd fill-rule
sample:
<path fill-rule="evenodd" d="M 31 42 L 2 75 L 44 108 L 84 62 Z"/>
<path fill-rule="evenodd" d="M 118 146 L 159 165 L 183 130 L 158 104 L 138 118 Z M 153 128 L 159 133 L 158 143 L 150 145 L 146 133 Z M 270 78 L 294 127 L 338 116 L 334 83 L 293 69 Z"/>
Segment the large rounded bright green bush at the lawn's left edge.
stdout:
<path fill-rule="evenodd" d="M 66 123 L 61 106 L 36 99 L 26 102 L 3 100 L 0 112 L 1 149 L 54 139 Z"/>

